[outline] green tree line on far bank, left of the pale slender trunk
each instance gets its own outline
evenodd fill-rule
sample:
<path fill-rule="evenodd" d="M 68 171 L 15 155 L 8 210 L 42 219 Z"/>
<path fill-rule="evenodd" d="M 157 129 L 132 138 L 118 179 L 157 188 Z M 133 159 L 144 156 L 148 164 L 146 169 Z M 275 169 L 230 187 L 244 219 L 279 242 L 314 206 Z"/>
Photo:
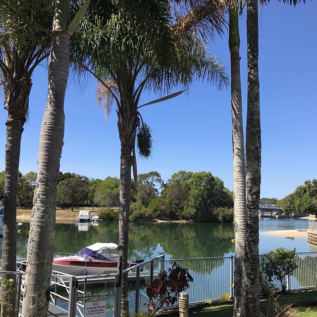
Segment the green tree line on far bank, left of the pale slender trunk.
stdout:
<path fill-rule="evenodd" d="M 1 175 L 0 173 L 0 186 Z M 36 183 L 36 173 L 19 174 L 18 205 L 20 198 L 31 199 Z M 185 219 L 200 222 L 232 222 L 233 193 L 223 181 L 210 172 L 174 173 L 166 183 L 157 171 L 138 174 L 131 183 L 132 207 L 143 210 L 147 218 Z M 70 172 L 59 172 L 57 207 L 119 207 L 120 179 L 106 177 L 89 179 Z"/>

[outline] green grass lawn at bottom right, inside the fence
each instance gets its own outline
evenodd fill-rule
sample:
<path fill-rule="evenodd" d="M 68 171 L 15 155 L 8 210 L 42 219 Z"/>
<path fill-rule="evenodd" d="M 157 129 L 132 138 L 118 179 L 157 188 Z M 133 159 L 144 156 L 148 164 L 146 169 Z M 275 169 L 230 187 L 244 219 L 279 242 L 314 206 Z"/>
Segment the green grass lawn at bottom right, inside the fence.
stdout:
<path fill-rule="evenodd" d="M 314 292 L 305 292 L 286 295 L 284 298 L 279 297 L 279 301 L 282 307 L 303 300 L 313 300 L 317 299 L 317 291 Z M 265 307 L 267 301 L 261 301 L 260 307 Z M 221 306 L 211 306 L 204 308 L 200 311 L 190 312 L 191 317 L 231 317 L 232 316 L 232 305 L 221 305 Z M 295 307 L 298 312 L 298 317 L 317 317 L 317 307 Z"/>

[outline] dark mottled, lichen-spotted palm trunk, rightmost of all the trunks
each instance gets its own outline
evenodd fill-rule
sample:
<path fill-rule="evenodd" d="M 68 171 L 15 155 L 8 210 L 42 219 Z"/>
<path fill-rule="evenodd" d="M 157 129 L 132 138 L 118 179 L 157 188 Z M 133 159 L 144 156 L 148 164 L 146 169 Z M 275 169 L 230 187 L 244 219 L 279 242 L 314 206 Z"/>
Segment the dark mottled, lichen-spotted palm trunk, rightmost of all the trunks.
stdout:
<path fill-rule="evenodd" d="M 247 2 L 248 112 L 246 129 L 246 313 L 259 316 L 259 203 L 261 186 L 261 121 L 259 87 L 258 1 Z"/>

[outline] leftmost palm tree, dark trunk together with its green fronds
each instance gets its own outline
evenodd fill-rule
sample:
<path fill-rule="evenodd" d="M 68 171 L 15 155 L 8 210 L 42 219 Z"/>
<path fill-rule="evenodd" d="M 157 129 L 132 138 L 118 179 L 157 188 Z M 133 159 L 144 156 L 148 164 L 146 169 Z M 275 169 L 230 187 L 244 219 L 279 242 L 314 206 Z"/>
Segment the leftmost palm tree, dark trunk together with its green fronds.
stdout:
<path fill-rule="evenodd" d="M 26 24 L 36 15 L 39 23 L 48 26 L 52 14 L 50 0 L 0 1 L 0 71 L 6 120 L 4 225 L 2 269 L 15 271 L 16 201 L 20 144 L 23 126 L 29 113 L 29 95 L 35 68 L 48 56 L 49 37 Z"/>

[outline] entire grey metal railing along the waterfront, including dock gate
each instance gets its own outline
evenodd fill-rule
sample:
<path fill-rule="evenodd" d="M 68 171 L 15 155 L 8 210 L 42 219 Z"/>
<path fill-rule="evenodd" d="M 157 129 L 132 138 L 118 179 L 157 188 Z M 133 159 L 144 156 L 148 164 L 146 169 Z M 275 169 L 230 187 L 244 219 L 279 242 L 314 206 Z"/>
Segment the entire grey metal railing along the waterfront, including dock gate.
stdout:
<path fill-rule="evenodd" d="M 317 252 L 296 253 L 297 268 L 287 277 L 286 290 L 303 290 L 317 286 Z M 113 311 L 113 316 L 120 316 L 122 277 L 128 279 L 128 299 L 131 316 L 147 310 L 145 303 L 149 302 L 146 294 L 147 283 L 158 278 L 159 273 L 168 270 L 176 263 L 187 268 L 194 281 L 185 292 L 189 294 L 191 305 L 208 300 L 215 301 L 223 294 L 234 296 L 233 272 L 234 257 L 214 257 L 197 259 L 165 260 L 160 255 L 151 260 L 122 270 L 120 261 L 119 273 L 109 275 L 72 276 L 53 271 L 51 279 L 51 304 L 67 312 L 68 317 L 84 317 L 87 305 L 96 301 L 106 301 L 106 311 Z M 20 269 L 23 261 L 17 262 Z M 125 275 L 126 274 L 126 275 Z M 16 303 L 22 303 L 25 273 L 23 271 L 6 272 L 3 275 L 16 276 Z M 277 280 L 273 280 L 280 288 Z M 50 306 L 51 307 L 51 306 Z M 19 309 L 19 307 L 16 307 Z M 17 315 L 18 316 L 18 315 Z M 108 315 L 107 315 L 108 316 Z"/>

